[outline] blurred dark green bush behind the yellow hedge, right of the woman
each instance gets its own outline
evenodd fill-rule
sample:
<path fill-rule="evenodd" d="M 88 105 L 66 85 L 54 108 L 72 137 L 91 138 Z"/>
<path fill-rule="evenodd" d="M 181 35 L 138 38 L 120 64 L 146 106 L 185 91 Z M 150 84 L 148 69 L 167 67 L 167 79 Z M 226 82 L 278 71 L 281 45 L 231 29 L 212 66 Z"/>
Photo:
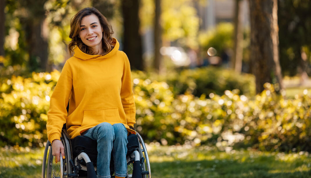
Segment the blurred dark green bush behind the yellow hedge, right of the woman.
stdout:
<path fill-rule="evenodd" d="M 181 71 L 169 71 L 165 76 L 156 73 L 132 72 L 133 78 L 164 81 L 172 87 L 174 95 L 193 94 L 200 97 L 203 93 L 223 94 L 225 90 L 239 89 L 239 94 L 255 95 L 254 77 L 238 74 L 229 69 L 202 67 Z"/>

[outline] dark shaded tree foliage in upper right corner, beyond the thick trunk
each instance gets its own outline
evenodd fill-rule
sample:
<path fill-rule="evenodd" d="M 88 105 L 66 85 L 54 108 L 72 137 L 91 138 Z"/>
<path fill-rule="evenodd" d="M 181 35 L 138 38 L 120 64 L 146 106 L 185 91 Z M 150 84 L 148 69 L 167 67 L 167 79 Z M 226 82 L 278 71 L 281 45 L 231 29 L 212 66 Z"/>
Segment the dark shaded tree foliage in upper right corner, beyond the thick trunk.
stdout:
<path fill-rule="evenodd" d="M 311 1 L 279 0 L 280 62 L 284 75 L 306 76 L 311 57 Z M 299 69 L 297 71 L 297 69 Z"/>

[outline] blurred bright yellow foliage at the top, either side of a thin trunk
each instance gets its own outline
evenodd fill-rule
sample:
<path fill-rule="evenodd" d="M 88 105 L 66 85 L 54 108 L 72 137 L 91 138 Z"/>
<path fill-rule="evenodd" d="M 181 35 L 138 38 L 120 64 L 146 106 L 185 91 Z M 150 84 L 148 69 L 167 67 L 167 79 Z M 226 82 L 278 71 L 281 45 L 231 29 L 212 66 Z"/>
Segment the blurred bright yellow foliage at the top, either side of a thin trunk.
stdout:
<path fill-rule="evenodd" d="M 142 0 L 139 16 L 142 30 L 150 28 L 154 21 L 155 4 Z M 161 26 L 164 41 L 178 42 L 181 46 L 197 48 L 199 18 L 191 0 L 161 1 Z"/>

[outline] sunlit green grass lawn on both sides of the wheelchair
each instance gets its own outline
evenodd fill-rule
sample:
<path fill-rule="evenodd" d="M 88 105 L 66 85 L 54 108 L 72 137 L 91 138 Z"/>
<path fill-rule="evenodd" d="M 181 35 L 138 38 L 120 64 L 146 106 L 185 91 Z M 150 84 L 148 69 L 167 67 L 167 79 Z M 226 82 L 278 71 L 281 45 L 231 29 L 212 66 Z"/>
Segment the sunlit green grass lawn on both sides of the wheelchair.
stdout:
<path fill-rule="evenodd" d="M 311 177 L 311 155 L 214 147 L 147 145 L 153 178 Z M 44 148 L 1 148 L 1 178 L 39 178 Z"/>

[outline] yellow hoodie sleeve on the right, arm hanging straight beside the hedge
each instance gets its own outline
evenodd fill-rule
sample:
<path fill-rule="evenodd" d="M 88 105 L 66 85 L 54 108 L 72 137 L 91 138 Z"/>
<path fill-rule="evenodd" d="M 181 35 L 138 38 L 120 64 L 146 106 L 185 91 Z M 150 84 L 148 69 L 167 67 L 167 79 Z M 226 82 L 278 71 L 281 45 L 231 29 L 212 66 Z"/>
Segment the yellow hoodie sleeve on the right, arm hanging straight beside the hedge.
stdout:
<path fill-rule="evenodd" d="M 128 56 L 124 54 L 123 76 L 121 85 L 121 102 L 126 115 L 126 120 L 129 126 L 134 126 L 136 123 L 136 107 L 134 101 L 134 93 L 131 78 L 131 68 Z"/>

